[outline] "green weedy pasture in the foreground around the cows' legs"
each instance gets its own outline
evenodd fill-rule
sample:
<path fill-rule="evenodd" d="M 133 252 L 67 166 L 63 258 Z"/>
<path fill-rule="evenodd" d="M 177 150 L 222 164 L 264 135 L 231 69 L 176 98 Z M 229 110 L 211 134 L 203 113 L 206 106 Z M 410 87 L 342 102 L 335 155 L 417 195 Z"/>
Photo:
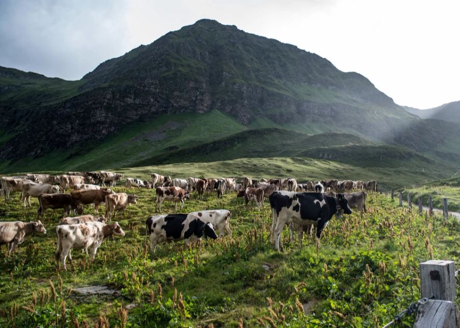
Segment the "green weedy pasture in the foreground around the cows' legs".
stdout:
<path fill-rule="evenodd" d="M 419 215 L 379 194 L 367 198 L 367 213 L 333 217 L 319 253 L 314 238 L 304 236 L 302 250 L 289 242 L 287 228 L 285 251 L 278 253 L 269 242 L 268 200 L 259 212 L 246 210 L 235 193 L 200 200 L 192 192 L 181 212 L 227 209 L 233 236 L 203 239 L 190 249 L 161 244 L 150 259 L 145 220 L 154 214 L 154 190 L 114 189 L 139 199 L 117 216 L 126 235 L 105 240 L 93 263 L 74 250 L 69 270 L 56 272 L 62 210 L 45 214 L 47 235 L 34 235 L 12 257 L 6 246 L 0 249 L 1 326 L 381 326 L 420 298 L 420 262 L 450 259 L 460 267 L 458 220 Z M 22 209 L 18 196 L 9 204 L 0 200 L 2 221 L 35 220 L 37 199 Z M 173 210 L 165 201 L 163 212 Z M 74 292 L 82 286 L 118 292 Z"/>

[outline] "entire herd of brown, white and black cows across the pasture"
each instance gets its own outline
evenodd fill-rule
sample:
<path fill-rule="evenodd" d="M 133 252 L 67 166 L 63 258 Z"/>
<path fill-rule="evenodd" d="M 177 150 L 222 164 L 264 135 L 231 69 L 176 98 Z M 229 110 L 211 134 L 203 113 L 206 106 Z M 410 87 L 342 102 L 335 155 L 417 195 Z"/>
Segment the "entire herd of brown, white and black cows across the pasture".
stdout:
<path fill-rule="evenodd" d="M 115 186 L 123 178 L 123 174 L 100 172 L 67 172 L 65 175 L 26 174 L 24 176 L 4 176 L 0 178 L 0 196 L 8 202 L 11 192 L 20 192 L 22 206 L 29 206 L 30 197 L 37 197 L 39 207 L 37 218 L 43 219 L 45 211 L 63 209 L 65 215 L 56 227 L 57 251 L 56 266 L 59 263 L 66 270 L 65 261 L 72 260 L 71 249 L 91 249 L 90 259 L 94 260 L 96 251 L 102 241 L 109 236 L 124 236 L 118 222 L 107 223 L 117 212 L 123 212 L 129 204 L 137 203 L 137 196 L 127 193 L 115 193 L 110 187 Z M 311 234 L 316 227 L 317 245 L 321 232 L 335 214 L 351 214 L 351 209 L 366 211 L 366 192 L 376 191 L 376 181 L 315 181 L 298 184 L 295 179 L 261 179 L 260 181 L 244 177 L 241 183 L 234 178 L 187 180 L 171 179 L 157 173 L 151 175 L 151 181 L 134 178 L 125 179 L 127 188 L 155 188 L 155 210 L 162 212 L 165 200 L 181 203 L 197 192 L 201 199 L 205 191 L 216 192 L 222 197 L 226 192 L 237 192 L 237 197 L 244 197 L 246 209 L 248 203 L 256 203 L 259 210 L 264 204 L 264 198 L 269 199 L 273 213 L 270 241 L 275 249 L 283 250 L 282 231 L 288 225 L 293 233 L 298 233 L 299 244 L 302 247 L 303 233 Z M 65 193 L 71 189 L 70 193 Z M 105 216 L 82 215 L 84 205 L 94 205 L 98 208 L 105 204 Z M 72 211 L 79 216 L 68 217 Z M 159 243 L 166 241 L 185 240 L 186 245 L 195 243 L 202 236 L 212 239 L 219 236 L 232 235 L 229 228 L 231 213 L 227 210 L 196 211 L 188 214 L 165 214 L 149 216 L 146 221 L 146 233 L 150 237 L 150 249 L 153 253 Z M 0 222 L 0 245 L 8 244 L 8 253 L 15 251 L 18 244 L 24 242 L 32 233 L 45 234 L 47 231 L 40 220 L 31 222 L 9 221 Z"/>

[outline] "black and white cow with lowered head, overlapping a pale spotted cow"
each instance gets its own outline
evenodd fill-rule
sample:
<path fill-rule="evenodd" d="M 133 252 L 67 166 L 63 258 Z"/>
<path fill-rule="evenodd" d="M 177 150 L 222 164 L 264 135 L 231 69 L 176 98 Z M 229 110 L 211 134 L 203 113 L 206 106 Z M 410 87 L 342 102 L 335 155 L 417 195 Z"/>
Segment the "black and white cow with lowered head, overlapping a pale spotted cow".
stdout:
<path fill-rule="evenodd" d="M 186 246 L 195 243 L 203 235 L 216 239 L 212 223 L 203 222 L 193 214 L 169 214 L 149 217 L 151 221 L 150 251 L 153 254 L 157 244 L 168 240 L 185 240 Z"/>

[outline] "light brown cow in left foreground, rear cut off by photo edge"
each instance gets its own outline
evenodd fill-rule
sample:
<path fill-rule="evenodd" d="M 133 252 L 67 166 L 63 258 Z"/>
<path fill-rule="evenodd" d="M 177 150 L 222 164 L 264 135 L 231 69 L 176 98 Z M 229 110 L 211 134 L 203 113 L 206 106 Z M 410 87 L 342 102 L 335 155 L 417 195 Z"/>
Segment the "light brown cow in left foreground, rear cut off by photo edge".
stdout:
<path fill-rule="evenodd" d="M 34 232 L 47 233 L 40 220 L 37 222 L 0 222 L 0 245 L 8 244 L 8 254 L 12 254 L 16 250 L 17 245 L 24 242 Z"/>

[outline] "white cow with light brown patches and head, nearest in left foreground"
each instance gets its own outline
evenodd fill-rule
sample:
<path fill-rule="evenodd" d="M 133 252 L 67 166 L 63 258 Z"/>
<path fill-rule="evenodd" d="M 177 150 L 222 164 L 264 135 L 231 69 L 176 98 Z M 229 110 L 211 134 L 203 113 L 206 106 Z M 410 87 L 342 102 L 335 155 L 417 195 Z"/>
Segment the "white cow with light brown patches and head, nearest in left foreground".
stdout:
<path fill-rule="evenodd" d="M 94 261 L 96 251 L 107 237 L 116 235 L 124 236 L 125 232 L 121 229 L 118 222 L 105 224 L 102 222 L 86 222 L 81 224 L 58 225 L 56 227 L 57 250 L 56 268 L 59 271 L 59 262 L 62 263 L 64 270 L 67 270 L 65 260 L 72 261 L 71 249 L 88 249 L 91 247 L 90 260 Z"/>

